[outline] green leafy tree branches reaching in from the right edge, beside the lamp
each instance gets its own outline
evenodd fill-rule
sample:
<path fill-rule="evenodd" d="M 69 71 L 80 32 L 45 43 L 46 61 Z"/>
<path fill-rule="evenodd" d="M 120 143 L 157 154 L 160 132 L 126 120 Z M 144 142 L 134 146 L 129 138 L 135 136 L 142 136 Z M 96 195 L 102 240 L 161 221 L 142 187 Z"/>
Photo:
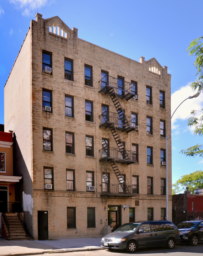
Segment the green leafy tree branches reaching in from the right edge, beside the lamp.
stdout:
<path fill-rule="evenodd" d="M 190 86 L 193 91 L 203 92 L 203 37 L 194 39 L 187 49 L 189 56 L 196 56 L 194 66 L 197 69 L 198 79 Z M 203 108 L 202 110 L 192 110 L 192 117 L 188 119 L 188 126 L 194 126 L 194 135 L 203 136 Z M 197 114 L 200 114 L 197 117 Z M 203 157 L 203 144 L 196 144 L 187 149 L 182 149 L 181 153 L 186 156 Z"/>

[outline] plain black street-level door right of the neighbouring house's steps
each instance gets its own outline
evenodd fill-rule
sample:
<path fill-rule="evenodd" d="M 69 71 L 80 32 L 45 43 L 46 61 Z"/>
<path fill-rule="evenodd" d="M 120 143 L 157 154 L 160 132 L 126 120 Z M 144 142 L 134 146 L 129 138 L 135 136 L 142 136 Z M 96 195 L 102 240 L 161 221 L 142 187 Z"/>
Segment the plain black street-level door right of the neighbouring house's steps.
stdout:
<path fill-rule="evenodd" d="M 48 211 L 38 211 L 38 240 L 48 240 Z"/>

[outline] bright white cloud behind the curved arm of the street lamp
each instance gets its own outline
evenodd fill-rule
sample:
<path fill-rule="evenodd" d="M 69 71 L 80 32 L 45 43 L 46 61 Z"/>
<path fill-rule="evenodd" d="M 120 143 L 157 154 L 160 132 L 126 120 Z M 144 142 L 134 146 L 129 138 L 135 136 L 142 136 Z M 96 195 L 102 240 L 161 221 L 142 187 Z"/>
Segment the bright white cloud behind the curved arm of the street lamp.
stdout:
<path fill-rule="evenodd" d="M 174 92 L 171 95 L 171 114 L 176 110 L 178 105 L 188 98 L 195 94 L 192 91 L 189 83 L 186 86 L 181 87 L 178 91 Z M 184 101 L 180 107 L 177 108 L 176 112 L 173 114 L 171 119 L 172 129 L 178 129 L 178 120 L 187 120 L 191 117 L 192 110 L 201 110 L 203 108 L 203 94 L 200 94 L 197 98 L 192 98 Z M 196 115 L 198 117 L 198 115 Z M 193 133 L 193 127 L 187 127 Z M 177 131 L 176 131 L 177 132 Z M 182 131 L 183 132 L 183 131 Z"/>

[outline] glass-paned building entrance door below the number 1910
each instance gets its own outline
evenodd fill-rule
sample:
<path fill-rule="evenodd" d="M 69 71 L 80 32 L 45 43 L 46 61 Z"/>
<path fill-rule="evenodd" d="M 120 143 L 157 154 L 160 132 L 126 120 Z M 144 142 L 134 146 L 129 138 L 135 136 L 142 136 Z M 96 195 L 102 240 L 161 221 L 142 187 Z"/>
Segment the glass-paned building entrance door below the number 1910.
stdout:
<path fill-rule="evenodd" d="M 108 225 L 111 226 L 111 231 L 115 231 L 121 226 L 121 214 L 119 206 L 108 206 Z"/>

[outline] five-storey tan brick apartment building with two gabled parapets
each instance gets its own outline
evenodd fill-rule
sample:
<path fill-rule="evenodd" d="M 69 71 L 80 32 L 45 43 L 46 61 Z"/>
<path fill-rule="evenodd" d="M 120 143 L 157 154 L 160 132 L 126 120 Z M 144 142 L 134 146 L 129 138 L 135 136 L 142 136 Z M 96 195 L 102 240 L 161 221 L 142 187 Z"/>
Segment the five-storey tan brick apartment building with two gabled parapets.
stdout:
<path fill-rule="evenodd" d="M 154 58 L 134 61 L 77 31 L 37 14 L 5 85 L 5 131 L 14 131 L 34 239 L 101 236 L 106 225 L 165 218 L 171 75 Z"/>

